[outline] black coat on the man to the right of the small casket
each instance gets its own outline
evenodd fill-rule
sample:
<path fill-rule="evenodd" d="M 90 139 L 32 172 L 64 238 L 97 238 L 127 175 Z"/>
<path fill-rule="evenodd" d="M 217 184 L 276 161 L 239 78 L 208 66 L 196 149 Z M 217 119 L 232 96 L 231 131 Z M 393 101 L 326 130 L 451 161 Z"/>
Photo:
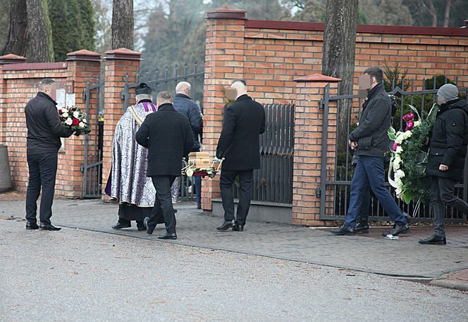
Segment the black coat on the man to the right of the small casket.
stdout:
<path fill-rule="evenodd" d="M 260 168 L 259 134 L 265 131 L 263 105 L 242 95 L 224 112 L 216 157 L 225 157 L 224 170 Z"/>

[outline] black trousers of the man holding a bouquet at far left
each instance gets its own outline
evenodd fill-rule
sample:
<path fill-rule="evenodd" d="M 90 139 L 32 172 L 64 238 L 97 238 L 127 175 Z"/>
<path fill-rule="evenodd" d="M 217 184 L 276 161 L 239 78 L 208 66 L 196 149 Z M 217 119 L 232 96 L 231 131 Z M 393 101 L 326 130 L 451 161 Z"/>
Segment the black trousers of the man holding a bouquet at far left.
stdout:
<path fill-rule="evenodd" d="M 37 221 L 37 199 L 42 188 L 39 221 L 42 224 L 51 223 L 57 159 L 57 153 L 27 153 L 30 177 L 26 193 L 26 220 L 29 222 L 35 223 Z"/>

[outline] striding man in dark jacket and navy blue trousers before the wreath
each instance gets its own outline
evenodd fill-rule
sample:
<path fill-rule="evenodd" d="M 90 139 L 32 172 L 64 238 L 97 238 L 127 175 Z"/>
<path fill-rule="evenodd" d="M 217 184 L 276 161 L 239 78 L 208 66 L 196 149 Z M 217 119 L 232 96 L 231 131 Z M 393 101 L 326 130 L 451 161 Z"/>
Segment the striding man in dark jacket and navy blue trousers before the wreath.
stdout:
<path fill-rule="evenodd" d="M 383 233 L 397 236 L 408 230 L 407 219 L 385 186 L 383 155 L 388 150 L 388 127 L 390 126 L 391 102 L 383 89 L 383 72 L 379 67 L 370 67 L 364 71 L 369 75 L 367 92 L 368 103 L 359 119 L 358 127 L 350 133 L 349 143 L 359 156 L 355 174 L 351 181 L 350 206 L 345 223 L 338 229 L 331 229 L 335 235 L 354 235 L 356 219 L 362 205 L 362 195 L 367 186 L 381 202 L 383 209 L 395 226 Z"/>

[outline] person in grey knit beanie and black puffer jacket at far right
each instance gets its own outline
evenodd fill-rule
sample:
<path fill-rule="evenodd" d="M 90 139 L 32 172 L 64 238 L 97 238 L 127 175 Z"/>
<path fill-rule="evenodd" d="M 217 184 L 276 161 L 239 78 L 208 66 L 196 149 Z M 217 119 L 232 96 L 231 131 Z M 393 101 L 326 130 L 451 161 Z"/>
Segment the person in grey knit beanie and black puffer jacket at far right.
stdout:
<path fill-rule="evenodd" d="M 468 204 L 454 194 L 455 182 L 463 176 L 468 144 L 468 103 L 458 98 L 457 86 L 445 84 L 437 91 L 441 105 L 429 141 L 426 174 L 431 176 L 434 234 L 421 244 L 445 245 L 445 206 L 468 214 Z"/>

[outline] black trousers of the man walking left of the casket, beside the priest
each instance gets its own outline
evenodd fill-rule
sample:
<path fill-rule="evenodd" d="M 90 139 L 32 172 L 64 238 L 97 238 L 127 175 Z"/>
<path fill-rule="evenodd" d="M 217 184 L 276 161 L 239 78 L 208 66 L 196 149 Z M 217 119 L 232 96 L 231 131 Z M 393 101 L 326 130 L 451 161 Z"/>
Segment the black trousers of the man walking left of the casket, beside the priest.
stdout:
<path fill-rule="evenodd" d="M 148 220 L 148 228 L 153 230 L 164 219 L 166 231 L 176 233 L 176 216 L 172 207 L 171 186 L 177 176 L 152 176 L 156 188 L 156 202 Z"/>

